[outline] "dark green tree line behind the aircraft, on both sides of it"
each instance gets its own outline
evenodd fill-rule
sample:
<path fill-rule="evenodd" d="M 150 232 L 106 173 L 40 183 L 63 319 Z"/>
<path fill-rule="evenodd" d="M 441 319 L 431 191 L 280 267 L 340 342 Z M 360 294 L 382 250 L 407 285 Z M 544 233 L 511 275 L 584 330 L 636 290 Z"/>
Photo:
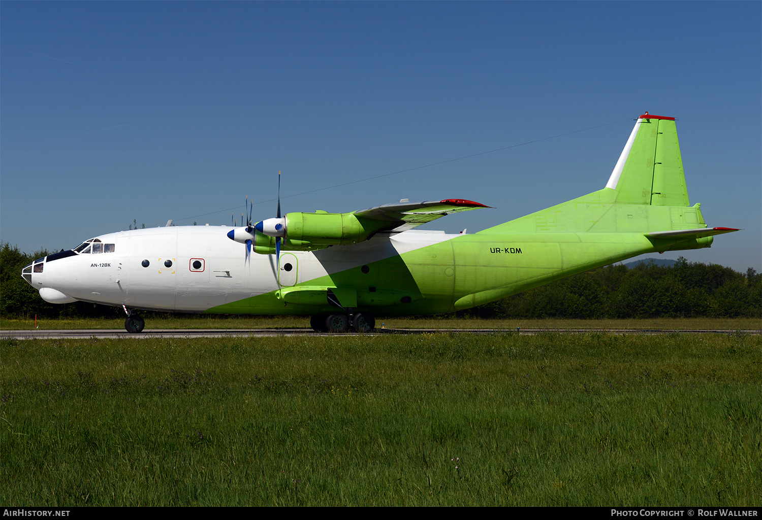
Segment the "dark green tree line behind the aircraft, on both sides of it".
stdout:
<path fill-rule="evenodd" d="M 121 308 L 84 301 L 53 305 L 40 298 L 21 278 L 21 270 L 47 254 L 44 249 L 25 254 L 2 242 L 0 316 L 123 316 Z M 762 274 L 751 267 L 742 274 L 683 257 L 671 267 L 610 265 L 456 314 L 489 318 L 762 317 Z"/>

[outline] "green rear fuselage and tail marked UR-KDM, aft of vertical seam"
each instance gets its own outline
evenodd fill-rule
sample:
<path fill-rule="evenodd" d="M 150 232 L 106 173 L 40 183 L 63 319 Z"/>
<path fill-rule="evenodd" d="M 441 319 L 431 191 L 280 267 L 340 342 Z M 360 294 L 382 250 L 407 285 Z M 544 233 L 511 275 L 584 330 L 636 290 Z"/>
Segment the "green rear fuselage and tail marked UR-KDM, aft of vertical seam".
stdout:
<path fill-rule="evenodd" d="M 644 114 L 603 190 L 452 241 L 456 295 L 463 294 L 453 307 L 482 305 L 639 254 L 709 247 L 712 234 L 728 231 L 734 230 L 707 230 L 699 205 L 689 206 L 674 118 Z M 469 242 L 479 245 L 469 250 Z"/>

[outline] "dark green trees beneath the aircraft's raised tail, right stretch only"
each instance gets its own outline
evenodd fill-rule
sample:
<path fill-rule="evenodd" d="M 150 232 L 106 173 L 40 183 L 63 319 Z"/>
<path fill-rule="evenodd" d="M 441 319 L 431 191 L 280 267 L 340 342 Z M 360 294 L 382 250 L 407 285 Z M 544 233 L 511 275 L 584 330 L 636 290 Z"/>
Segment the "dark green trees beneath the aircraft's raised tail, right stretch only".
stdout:
<path fill-rule="evenodd" d="M 762 274 L 717 264 L 600 267 L 481 307 L 462 317 L 762 317 Z"/>

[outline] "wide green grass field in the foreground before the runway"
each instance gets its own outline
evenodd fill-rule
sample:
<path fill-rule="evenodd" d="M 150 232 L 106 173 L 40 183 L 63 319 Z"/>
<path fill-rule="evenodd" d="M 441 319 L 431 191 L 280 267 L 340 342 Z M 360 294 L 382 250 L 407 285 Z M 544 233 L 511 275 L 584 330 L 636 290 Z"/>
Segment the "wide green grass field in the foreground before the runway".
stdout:
<path fill-rule="evenodd" d="M 0 340 L 12 506 L 760 506 L 762 338 Z"/>

